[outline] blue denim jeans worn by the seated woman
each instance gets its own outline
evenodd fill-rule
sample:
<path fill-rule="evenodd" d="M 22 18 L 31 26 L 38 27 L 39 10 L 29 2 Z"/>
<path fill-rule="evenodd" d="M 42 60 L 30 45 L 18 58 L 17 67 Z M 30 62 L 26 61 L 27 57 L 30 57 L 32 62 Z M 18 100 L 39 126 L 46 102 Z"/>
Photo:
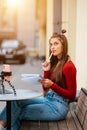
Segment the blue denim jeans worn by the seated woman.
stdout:
<path fill-rule="evenodd" d="M 68 103 L 61 96 L 49 91 L 45 97 L 11 102 L 11 130 L 20 129 L 20 120 L 62 120 L 68 113 Z M 0 114 L 6 122 L 6 107 Z"/>

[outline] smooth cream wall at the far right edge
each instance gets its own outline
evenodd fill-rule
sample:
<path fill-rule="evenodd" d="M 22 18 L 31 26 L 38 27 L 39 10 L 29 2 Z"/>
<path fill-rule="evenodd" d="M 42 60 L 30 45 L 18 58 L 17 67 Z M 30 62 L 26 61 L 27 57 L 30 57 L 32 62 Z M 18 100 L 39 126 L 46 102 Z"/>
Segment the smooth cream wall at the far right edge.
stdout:
<path fill-rule="evenodd" d="M 87 88 L 87 0 L 77 0 L 76 66 L 78 88 Z"/>

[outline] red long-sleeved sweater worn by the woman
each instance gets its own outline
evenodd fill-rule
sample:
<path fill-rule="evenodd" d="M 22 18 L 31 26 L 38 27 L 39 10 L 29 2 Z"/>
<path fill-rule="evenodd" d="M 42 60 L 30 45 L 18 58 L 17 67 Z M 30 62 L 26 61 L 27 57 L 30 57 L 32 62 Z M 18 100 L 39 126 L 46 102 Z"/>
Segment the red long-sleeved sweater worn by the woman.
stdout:
<path fill-rule="evenodd" d="M 73 100 L 76 96 L 76 68 L 72 61 L 68 61 L 63 66 L 62 74 L 66 88 L 62 88 L 60 85 L 54 82 L 54 84 L 51 86 L 51 89 L 60 96 Z M 50 75 L 52 75 L 50 71 L 44 71 L 44 78 L 51 79 Z"/>

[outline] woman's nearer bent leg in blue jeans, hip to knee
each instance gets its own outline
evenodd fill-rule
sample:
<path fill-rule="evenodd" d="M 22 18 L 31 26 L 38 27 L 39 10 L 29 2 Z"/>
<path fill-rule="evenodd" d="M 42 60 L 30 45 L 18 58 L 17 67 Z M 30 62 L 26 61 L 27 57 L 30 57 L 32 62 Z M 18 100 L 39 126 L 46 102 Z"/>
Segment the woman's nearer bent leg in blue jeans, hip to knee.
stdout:
<path fill-rule="evenodd" d="M 67 112 L 68 108 L 64 103 L 42 98 L 35 104 L 25 106 L 19 118 L 20 120 L 61 120 L 66 117 Z"/>

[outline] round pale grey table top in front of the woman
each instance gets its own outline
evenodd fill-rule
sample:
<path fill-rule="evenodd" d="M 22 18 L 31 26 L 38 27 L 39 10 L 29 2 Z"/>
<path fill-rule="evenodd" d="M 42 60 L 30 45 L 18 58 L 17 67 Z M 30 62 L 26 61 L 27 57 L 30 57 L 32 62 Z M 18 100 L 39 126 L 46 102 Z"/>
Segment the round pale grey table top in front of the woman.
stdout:
<path fill-rule="evenodd" d="M 0 101 L 25 100 L 40 97 L 42 95 L 42 92 L 37 90 L 16 89 L 16 95 L 14 95 L 14 93 L 0 94 Z"/>

